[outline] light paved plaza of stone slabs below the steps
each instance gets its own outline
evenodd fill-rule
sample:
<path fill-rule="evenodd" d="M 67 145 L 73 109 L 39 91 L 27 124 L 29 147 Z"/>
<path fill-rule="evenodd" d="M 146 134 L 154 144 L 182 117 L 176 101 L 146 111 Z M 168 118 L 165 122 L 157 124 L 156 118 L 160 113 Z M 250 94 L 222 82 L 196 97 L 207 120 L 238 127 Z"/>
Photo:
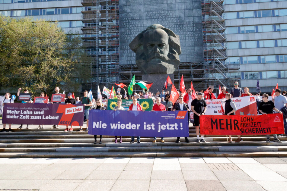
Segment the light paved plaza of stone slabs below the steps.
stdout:
<path fill-rule="evenodd" d="M 287 158 L 0 158 L 0 190 L 286 190 Z"/>

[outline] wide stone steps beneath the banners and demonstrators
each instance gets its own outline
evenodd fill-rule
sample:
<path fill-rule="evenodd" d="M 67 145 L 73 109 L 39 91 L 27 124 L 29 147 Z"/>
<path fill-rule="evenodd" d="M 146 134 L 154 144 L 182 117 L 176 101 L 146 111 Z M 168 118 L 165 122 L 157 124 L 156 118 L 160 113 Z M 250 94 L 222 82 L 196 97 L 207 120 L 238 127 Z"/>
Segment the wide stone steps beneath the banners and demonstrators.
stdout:
<path fill-rule="evenodd" d="M 103 136 L 102 144 L 94 144 L 94 136 L 77 132 L 78 128 L 64 132 L 65 127 L 37 129 L 30 125 L 30 129 L 19 130 L 14 126 L 11 133 L 0 133 L 0 158 L 287 157 L 285 136 L 279 138 L 282 143 L 273 142 L 272 136 L 271 142 L 266 143 L 264 135 L 245 135 L 242 142 L 228 143 L 226 136 L 207 135 L 206 143 L 196 143 L 195 127 L 190 127 L 190 143 L 184 142 L 183 137 L 180 143 L 175 143 L 176 137 L 164 138 L 165 143 L 152 143 L 152 137 L 141 137 L 141 143 L 130 144 L 130 137 L 123 137 L 123 143 L 115 144 L 114 136 Z"/>

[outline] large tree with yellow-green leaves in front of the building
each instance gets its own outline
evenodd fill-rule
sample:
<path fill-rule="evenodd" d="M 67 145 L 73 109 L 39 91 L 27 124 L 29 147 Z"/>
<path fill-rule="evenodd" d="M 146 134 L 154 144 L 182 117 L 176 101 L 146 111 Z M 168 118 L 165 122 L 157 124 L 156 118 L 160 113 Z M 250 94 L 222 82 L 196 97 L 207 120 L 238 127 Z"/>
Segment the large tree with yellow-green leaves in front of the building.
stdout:
<path fill-rule="evenodd" d="M 57 23 L 0 16 L 0 86 L 49 95 L 56 86 L 76 91 L 90 74 L 83 51 L 79 37 L 65 34 Z"/>

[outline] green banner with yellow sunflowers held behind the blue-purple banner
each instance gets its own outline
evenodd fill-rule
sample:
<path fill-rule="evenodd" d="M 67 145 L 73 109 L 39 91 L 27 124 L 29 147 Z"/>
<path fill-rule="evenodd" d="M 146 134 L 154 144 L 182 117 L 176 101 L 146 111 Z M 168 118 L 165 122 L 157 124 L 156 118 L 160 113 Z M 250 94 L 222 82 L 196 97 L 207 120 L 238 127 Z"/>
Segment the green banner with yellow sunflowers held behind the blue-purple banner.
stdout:
<path fill-rule="evenodd" d="M 128 110 L 129 106 L 132 104 L 132 99 L 123 99 L 122 101 L 123 101 L 122 107 L 125 108 L 125 110 Z M 154 102 L 152 101 L 152 99 L 138 99 L 138 104 L 142 106 L 143 110 L 151 111 Z M 113 110 L 113 108 L 116 107 L 117 105 L 118 105 L 117 99 L 108 99 L 108 105 L 107 105 L 108 110 Z"/>

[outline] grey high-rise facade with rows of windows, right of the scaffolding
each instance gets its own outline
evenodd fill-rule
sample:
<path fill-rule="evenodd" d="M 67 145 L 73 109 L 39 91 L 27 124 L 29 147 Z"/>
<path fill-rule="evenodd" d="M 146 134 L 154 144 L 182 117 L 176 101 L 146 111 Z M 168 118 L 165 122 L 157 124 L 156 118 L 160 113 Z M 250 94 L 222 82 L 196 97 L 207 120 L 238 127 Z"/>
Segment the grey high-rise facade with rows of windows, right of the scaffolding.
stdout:
<path fill-rule="evenodd" d="M 287 1 L 225 0 L 227 64 L 240 64 L 241 87 L 287 90 Z M 232 85 L 232 84 L 231 84 Z"/>

